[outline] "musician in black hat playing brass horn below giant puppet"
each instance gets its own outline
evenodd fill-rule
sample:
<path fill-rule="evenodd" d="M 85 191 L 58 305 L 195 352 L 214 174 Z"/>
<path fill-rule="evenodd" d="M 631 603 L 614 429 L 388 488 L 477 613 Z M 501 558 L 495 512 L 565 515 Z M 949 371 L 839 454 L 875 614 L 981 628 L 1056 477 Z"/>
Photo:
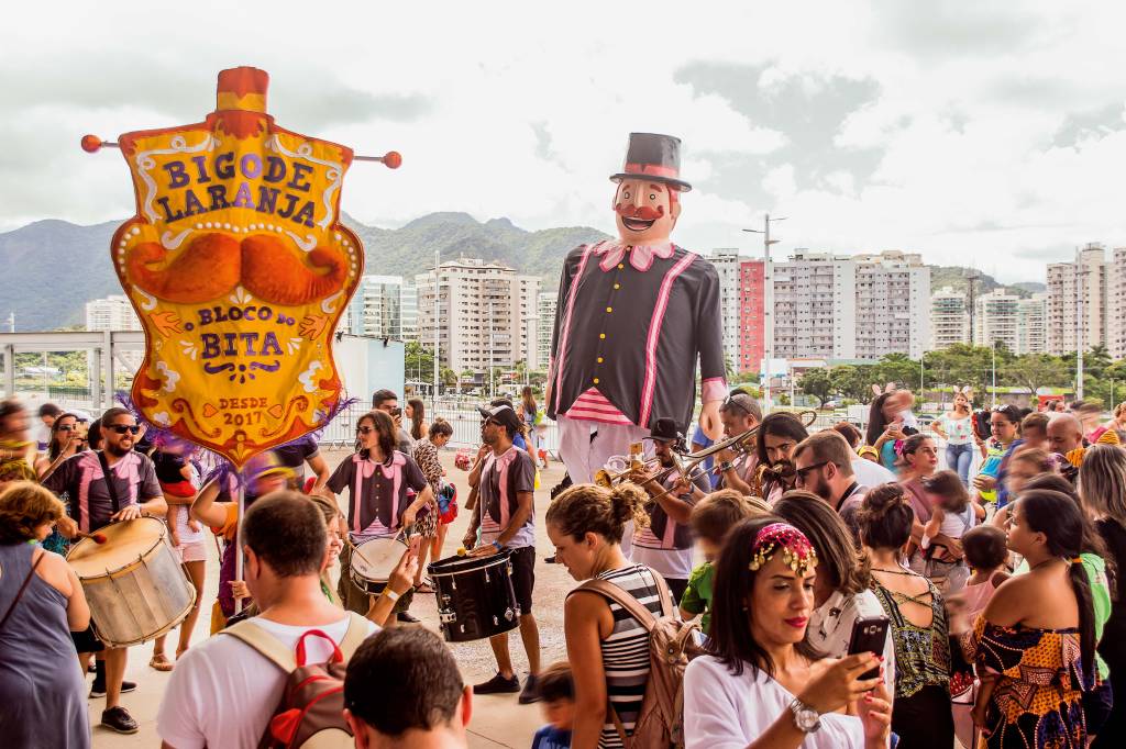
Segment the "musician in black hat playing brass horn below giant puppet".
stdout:
<path fill-rule="evenodd" d="M 676 469 L 677 459 L 672 451 L 683 442 L 676 422 L 671 418 L 656 419 L 651 439 L 653 452 L 661 463 L 658 475 L 665 476 L 660 481 L 656 476 L 634 479 L 649 493 L 652 502 L 645 504 L 649 527 L 633 530 L 629 559 L 660 572 L 669 584 L 673 604 L 679 604 L 692 574 L 692 534 L 688 517 L 696 504 L 694 494 L 707 494 L 712 487 L 703 471 L 691 477 L 692 484 L 689 485 Z"/>

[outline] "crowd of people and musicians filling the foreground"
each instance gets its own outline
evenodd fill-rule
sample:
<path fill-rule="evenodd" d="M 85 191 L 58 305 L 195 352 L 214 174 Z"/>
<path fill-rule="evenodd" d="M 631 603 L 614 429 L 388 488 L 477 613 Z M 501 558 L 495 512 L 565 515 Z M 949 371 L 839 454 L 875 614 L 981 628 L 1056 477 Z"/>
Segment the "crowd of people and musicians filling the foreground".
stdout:
<path fill-rule="evenodd" d="M 325 720 L 360 747 L 465 746 L 474 700 L 498 694 L 543 703 L 537 749 L 1116 746 L 1126 406 L 1101 424 L 1090 404 L 974 412 L 958 391 L 928 433 L 910 392 L 877 390 L 866 434 L 810 433 L 736 390 L 723 443 L 690 440 L 706 453 L 694 473 L 689 441 L 658 418 L 620 475 L 553 489 L 549 561 L 578 585 L 562 603 L 566 661 L 547 666 L 533 613 L 538 412 L 530 391 L 482 407 L 458 552 L 508 560 L 529 673 L 495 634 L 497 673 L 476 685 L 410 625 L 457 512 L 439 460 L 453 428 L 421 400 L 401 412 L 377 391 L 334 469 L 302 441 L 240 476 L 206 470 L 124 408 L 44 408 L 33 437 L 30 415 L 2 401 L 0 734 L 88 747 L 88 696 L 105 697 L 102 725 L 136 731 L 127 649 L 99 641 L 62 554 L 109 523 L 158 517 L 196 593 L 175 650 L 153 640 L 150 666 L 171 671 L 157 720 L 169 747 L 258 745 L 280 730 L 289 673 L 321 662 L 342 682 Z M 191 646 L 206 527 L 222 542 L 220 595 L 214 637 Z M 372 539 L 404 543 L 376 588 L 350 574 Z M 672 656 L 654 658 L 658 642 Z"/>

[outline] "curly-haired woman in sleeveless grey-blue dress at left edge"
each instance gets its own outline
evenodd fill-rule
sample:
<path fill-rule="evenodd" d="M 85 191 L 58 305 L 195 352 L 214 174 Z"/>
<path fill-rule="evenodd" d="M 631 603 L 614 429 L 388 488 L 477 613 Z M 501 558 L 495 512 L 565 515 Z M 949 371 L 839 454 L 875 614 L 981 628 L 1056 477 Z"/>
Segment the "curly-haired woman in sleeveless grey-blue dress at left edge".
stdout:
<path fill-rule="evenodd" d="M 38 544 L 62 516 L 37 484 L 0 493 L 0 736 L 9 747 L 90 746 L 70 635 L 90 625 L 90 608 L 66 560 Z"/>

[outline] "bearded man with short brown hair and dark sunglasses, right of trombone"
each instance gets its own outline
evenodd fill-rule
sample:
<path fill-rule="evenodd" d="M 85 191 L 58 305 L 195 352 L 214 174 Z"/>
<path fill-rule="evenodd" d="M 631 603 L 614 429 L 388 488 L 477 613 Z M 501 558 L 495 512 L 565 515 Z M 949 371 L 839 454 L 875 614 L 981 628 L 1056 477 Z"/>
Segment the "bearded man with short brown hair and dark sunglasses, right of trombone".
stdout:
<path fill-rule="evenodd" d="M 794 448 L 793 460 L 796 488 L 829 503 L 856 533 L 856 511 L 868 487 L 856 480 L 852 450 L 844 437 L 833 430 L 817 432 Z"/>

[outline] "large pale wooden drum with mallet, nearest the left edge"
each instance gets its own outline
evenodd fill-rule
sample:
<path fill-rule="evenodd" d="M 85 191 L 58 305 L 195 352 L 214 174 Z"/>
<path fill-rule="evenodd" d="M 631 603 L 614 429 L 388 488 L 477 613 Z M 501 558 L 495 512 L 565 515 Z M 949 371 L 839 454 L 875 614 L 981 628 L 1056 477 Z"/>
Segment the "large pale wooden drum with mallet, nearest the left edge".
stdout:
<path fill-rule="evenodd" d="M 168 541 L 164 524 L 153 517 L 98 529 L 106 542 L 75 543 L 66 561 L 78 575 L 90 604 L 98 639 L 110 648 L 148 642 L 184 621 L 196 603 Z"/>

